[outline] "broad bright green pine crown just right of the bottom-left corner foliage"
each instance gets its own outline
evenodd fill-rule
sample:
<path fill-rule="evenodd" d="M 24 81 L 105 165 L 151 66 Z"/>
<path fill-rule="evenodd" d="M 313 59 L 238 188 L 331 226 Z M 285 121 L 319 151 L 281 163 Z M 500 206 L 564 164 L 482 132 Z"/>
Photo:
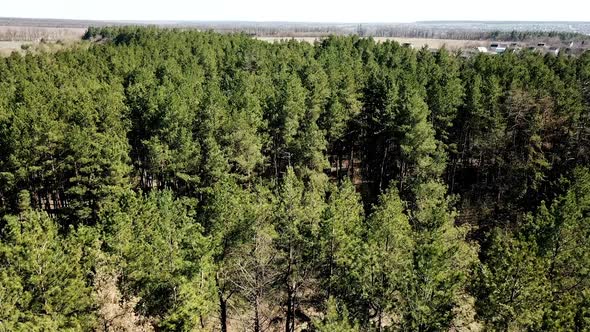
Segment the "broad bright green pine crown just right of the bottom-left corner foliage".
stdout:
<path fill-rule="evenodd" d="M 212 309 L 213 261 L 209 239 L 195 222 L 187 200 L 170 192 L 146 198 L 130 194 L 105 211 L 108 253 L 119 268 L 124 294 L 136 296 L 136 310 L 165 330 L 200 326 Z"/>

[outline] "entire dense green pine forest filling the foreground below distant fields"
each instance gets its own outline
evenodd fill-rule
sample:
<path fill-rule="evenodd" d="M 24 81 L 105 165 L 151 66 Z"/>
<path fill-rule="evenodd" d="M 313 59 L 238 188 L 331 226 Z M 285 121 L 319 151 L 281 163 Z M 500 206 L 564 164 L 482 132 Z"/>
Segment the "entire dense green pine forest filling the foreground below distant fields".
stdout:
<path fill-rule="evenodd" d="M 590 330 L 590 52 L 86 37 L 0 59 L 0 330 Z"/>

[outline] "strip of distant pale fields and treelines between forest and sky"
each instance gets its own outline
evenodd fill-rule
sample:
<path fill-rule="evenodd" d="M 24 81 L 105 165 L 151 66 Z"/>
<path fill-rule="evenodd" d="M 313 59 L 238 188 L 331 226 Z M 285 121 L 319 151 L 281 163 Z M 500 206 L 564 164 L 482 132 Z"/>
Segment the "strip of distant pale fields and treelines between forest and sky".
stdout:
<path fill-rule="evenodd" d="M 377 42 L 394 40 L 401 44 L 411 44 L 414 48 L 449 50 L 475 50 L 479 46 L 489 47 L 492 43 L 511 44 L 516 40 L 506 35 L 491 37 L 486 31 L 574 31 L 578 39 L 560 39 L 561 37 L 536 36 L 517 42 L 521 47 L 535 46 L 538 42 L 547 46 L 566 49 L 570 42 L 574 48 L 588 49 L 584 38 L 590 37 L 588 22 L 415 22 L 407 24 L 328 24 L 298 22 L 197 22 L 197 21 L 84 21 L 56 19 L 26 19 L 0 17 L 0 56 L 24 52 L 25 48 L 34 50 L 55 50 L 63 45 L 78 41 L 89 26 L 121 25 L 157 25 L 164 28 L 186 28 L 197 30 L 214 30 L 220 33 L 242 32 L 253 38 L 267 42 L 283 39 L 296 39 L 313 43 L 328 35 L 373 36 Z M 563 38 L 569 38 L 563 37 Z M 500 41 L 498 39 L 504 39 Z M 512 41 L 507 41 L 510 39 Z M 30 46 L 27 46 L 30 45 Z M 579 53 L 579 52 L 578 52 Z"/>

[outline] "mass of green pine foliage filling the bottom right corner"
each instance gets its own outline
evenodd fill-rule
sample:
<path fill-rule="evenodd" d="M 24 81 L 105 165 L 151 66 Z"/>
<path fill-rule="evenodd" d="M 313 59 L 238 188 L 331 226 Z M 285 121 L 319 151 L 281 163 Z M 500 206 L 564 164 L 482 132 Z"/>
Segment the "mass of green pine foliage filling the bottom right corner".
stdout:
<path fill-rule="evenodd" d="M 529 216 L 520 235 L 492 237 L 476 289 L 481 315 L 498 329 L 588 328 L 588 186 L 586 168 L 563 179 L 567 191 Z"/>

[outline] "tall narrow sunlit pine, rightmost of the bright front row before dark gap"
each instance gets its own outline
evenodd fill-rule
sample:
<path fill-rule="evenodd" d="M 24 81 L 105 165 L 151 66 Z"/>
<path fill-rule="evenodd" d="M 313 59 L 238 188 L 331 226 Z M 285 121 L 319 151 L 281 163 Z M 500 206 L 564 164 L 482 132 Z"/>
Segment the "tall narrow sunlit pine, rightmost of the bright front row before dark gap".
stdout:
<path fill-rule="evenodd" d="M 412 271 L 404 291 L 403 325 L 412 330 L 446 329 L 470 277 L 476 250 L 467 229 L 454 225 L 455 212 L 438 182 L 420 185 L 412 213 Z"/>

